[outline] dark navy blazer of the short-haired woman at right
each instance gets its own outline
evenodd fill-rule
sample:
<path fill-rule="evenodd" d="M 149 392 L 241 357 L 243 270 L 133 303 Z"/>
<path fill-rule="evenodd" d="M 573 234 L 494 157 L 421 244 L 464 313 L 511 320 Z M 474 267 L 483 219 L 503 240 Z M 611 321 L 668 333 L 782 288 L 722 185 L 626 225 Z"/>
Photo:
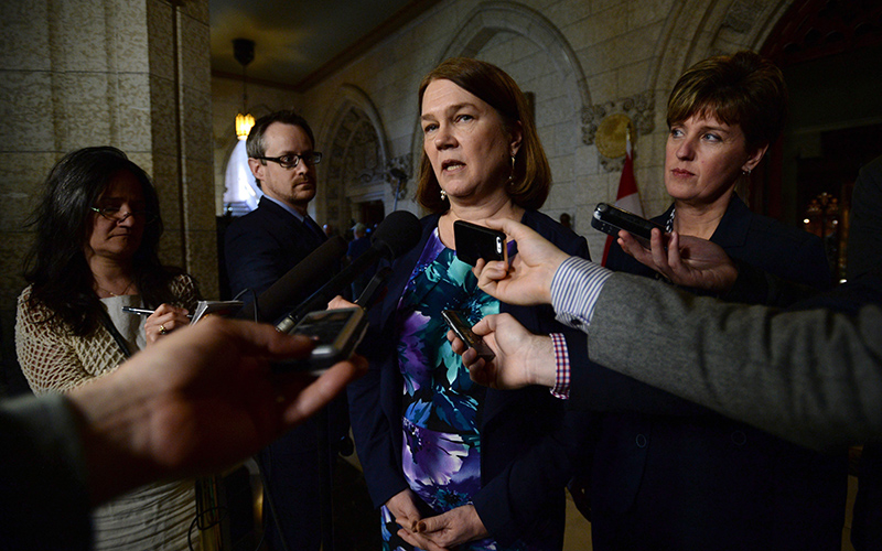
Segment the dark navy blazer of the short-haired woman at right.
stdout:
<path fill-rule="evenodd" d="M 818 237 L 753 214 L 736 196 L 711 241 L 774 276 L 819 289 L 831 283 Z M 607 267 L 655 276 L 617 245 Z M 591 380 L 582 377 L 580 387 Z M 633 411 L 602 418 L 591 477 L 595 549 L 839 549 L 845 451 L 819 454 L 662 391 L 653 395 L 657 402 L 635 401 L 647 391 L 636 381 L 632 388 L 634 395 L 623 383 L 605 397 Z M 581 396 L 576 378 L 573 396 Z M 654 522 L 664 528 L 643 537 Z"/>

